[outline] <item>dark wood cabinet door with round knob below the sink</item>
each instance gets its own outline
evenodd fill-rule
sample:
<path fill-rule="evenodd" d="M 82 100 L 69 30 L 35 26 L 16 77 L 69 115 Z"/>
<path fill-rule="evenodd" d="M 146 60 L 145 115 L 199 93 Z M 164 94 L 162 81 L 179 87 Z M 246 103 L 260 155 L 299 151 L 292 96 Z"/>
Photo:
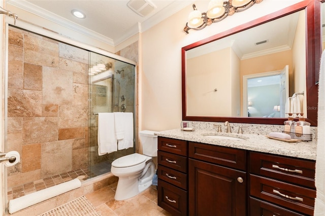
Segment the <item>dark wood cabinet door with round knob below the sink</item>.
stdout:
<path fill-rule="evenodd" d="M 189 159 L 189 215 L 246 215 L 246 172 Z"/>

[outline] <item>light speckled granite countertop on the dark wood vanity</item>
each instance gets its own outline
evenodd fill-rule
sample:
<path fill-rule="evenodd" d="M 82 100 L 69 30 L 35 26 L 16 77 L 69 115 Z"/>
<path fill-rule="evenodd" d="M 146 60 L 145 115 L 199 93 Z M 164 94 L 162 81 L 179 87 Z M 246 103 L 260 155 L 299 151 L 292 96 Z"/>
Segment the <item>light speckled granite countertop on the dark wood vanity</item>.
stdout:
<path fill-rule="evenodd" d="M 282 156 L 316 160 L 317 141 L 314 139 L 312 141 L 285 142 L 270 139 L 265 135 L 224 133 L 198 129 L 194 131 L 182 131 L 181 129 L 173 129 L 159 131 L 155 134 L 162 137 L 201 142 L 217 146 L 232 147 L 256 152 L 264 152 Z M 216 139 L 205 137 L 203 134 L 226 135 L 243 139 Z"/>

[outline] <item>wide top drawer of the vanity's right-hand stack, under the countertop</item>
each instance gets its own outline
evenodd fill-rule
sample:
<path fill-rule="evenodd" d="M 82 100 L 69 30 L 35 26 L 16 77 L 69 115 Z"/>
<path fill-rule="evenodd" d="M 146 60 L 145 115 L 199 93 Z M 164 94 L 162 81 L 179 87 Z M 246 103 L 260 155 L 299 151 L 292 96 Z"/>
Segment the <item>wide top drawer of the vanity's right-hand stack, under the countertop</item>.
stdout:
<path fill-rule="evenodd" d="M 250 173 L 315 188 L 315 162 L 310 160 L 251 152 Z"/>

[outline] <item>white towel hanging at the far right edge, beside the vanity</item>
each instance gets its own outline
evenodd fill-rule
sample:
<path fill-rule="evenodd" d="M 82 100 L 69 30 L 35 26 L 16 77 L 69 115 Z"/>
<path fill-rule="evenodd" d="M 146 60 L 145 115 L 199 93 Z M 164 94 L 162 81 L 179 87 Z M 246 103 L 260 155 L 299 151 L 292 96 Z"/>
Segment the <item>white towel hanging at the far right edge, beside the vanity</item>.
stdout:
<path fill-rule="evenodd" d="M 316 199 L 314 215 L 325 215 L 325 51 L 322 53 L 318 84 Z"/>

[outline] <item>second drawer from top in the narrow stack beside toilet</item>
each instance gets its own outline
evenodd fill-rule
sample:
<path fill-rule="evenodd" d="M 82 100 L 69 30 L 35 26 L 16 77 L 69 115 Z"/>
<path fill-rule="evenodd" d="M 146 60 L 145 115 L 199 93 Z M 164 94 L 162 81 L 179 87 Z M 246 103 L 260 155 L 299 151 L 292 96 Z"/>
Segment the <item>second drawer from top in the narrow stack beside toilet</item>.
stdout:
<path fill-rule="evenodd" d="M 180 155 L 158 150 L 158 164 L 181 172 L 187 172 L 187 158 Z"/>

